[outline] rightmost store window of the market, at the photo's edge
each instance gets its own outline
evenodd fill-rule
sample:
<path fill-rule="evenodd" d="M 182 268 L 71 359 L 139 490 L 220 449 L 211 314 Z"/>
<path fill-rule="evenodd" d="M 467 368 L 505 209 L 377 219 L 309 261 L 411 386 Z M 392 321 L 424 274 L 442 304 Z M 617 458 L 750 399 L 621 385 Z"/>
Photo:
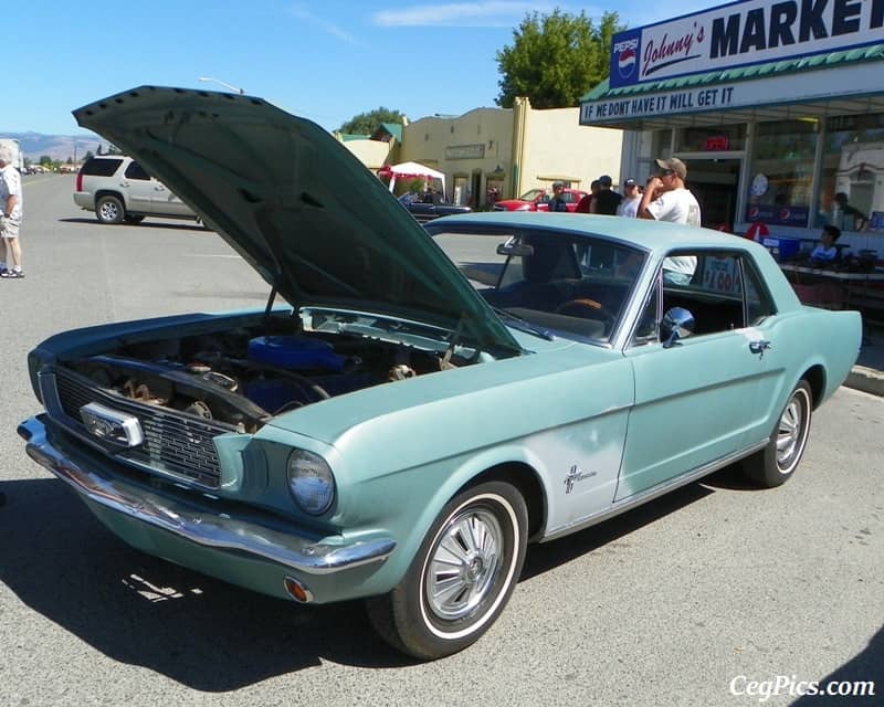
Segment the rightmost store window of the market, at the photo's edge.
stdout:
<path fill-rule="evenodd" d="M 814 225 L 884 232 L 884 113 L 825 120 Z"/>

